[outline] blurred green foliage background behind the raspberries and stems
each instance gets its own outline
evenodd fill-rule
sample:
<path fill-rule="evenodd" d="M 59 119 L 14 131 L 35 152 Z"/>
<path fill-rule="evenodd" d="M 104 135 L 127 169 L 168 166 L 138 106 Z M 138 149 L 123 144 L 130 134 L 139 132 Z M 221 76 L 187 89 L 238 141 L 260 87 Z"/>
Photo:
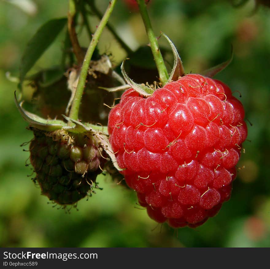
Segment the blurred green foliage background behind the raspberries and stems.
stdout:
<path fill-rule="evenodd" d="M 17 3 L 20 2 L 18 6 Z M 119 0 L 110 18 L 119 35 L 136 50 L 148 43 L 136 11 Z M 156 225 L 136 207 L 136 194 L 99 176 L 99 186 L 88 201 L 70 213 L 48 204 L 31 181 L 20 147 L 32 138 L 17 111 L 13 93 L 20 59 L 30 37 L 46 21 L 66 16 L 68 1 L 0 1 L 0 245 L 2 247 L 270 247 L 270 9 L 255 8 L 254 1 L 152 0 L 149 14 L 156 35 L 166 33 L 175 43 L 186 72 L 200 72 L 230 57 L 232 63 L 215 78 L 241 92 L 246 111 L 248 140 L 238 164 L 230 201 L 202 226 L 177 231 Z M 267 2 L 267 1 L 265 1 Z M 98 1 L 104 11 L 108 1 Z M 91 18 L 91 29 L 98 23 Z M 44 53 L 34 71 L 60 62 L 64 32 Z M 80 42 L 88 46 L 83 31 Z M 160 38 L 162 46 L 169 48 Z M 111 54 L 117 66 L 125 51 L 106 30 L 101 53 Z M 239 97 L 239 92 L 234 95 Z M 245 169 L 241 169 L 245 166 Z"/>

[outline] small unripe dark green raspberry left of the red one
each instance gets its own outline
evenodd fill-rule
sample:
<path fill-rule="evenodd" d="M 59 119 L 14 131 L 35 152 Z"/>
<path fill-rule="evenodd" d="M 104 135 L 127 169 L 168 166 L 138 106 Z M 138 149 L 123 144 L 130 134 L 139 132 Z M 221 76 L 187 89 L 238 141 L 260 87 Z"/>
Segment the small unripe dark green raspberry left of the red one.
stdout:
<path fill-rule="evenodd" d="M 31 128 L 30 161 L 42 194 L 60 205 L 72 205 L 97 188 L 96 177 L 106 159 L 92 133 Z"/>

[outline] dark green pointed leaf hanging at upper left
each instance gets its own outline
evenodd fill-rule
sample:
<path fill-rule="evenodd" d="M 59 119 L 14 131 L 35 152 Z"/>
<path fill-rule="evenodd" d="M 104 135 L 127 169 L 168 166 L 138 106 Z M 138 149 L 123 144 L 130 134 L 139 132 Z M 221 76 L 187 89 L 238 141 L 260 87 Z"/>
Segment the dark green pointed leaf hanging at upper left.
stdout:
<path fill-rule="evenodd" d="M 53 19 L 42 25 L 28 42 L 21 59 L 20 84 L 25 75 L 52 44 L 67 23 L 67 18 Z"/>

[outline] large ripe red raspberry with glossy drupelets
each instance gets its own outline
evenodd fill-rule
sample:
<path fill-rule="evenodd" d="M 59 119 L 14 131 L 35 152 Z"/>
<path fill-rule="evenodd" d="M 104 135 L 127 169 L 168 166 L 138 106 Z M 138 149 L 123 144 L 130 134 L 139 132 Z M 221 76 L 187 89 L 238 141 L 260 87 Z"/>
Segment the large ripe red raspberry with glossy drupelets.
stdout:
<path fill-rule="evenodd" d="M 147 98 L 133 89 L 122 95 L 110 111 L 110 143 L 152 219 L 195 228 L 230 199 L 244 114 L 228 86 L 197 74 Z"/>

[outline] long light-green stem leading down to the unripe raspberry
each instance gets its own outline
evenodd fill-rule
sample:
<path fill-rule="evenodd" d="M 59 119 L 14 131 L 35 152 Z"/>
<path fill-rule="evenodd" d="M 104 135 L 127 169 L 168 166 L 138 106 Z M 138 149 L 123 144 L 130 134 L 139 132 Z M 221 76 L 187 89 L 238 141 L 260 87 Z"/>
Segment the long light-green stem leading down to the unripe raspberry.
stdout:
<path fill-rule="evenodd" d="M 85 54 L 84 60 L 83 60 L 83 65 L 81 68 L 81 73 L 79 76 L 79 82 L 78 82 L 78 86 L 74 95 L 74 99 L 72 101 L 72 105 L 71 105 L 71 109 L 70 109 L 70 113 L 69 113 L 69 118 L 71 119 L 75 119 L 78 120 L 78 115 L 79 115 L 79 107 L 80 107 L 80 103 L 81 103 L 81 99 L 82 99 L 82 95 L 83 95 L 83 90 L 84 90 L 84 86 L 86 83 L 86 78 L 87 78 L 87 74 L 88 74 L 88 68 L 89 68 L 89 64 L 92 58 L 92 55 L 94 53 L 94 50 L 96 48 L 96 45 L 98 44 L 99 41 L 99 37 L 108 21 L 108 19 L 110 18 L 110 14 L 112 13 L 113 9 L 114 9 L 114 5 L 116 3 L 117 0 L 111 0 L 109 3 L 109 6 L 107 7 L 102 20 L 100 21 L 93 37 L 92 40 L 90 42 L 90 45 L 87 49 L 87 52 Z M 69 123 L 71 125 L 73 125 L 74 123 Z"/>

